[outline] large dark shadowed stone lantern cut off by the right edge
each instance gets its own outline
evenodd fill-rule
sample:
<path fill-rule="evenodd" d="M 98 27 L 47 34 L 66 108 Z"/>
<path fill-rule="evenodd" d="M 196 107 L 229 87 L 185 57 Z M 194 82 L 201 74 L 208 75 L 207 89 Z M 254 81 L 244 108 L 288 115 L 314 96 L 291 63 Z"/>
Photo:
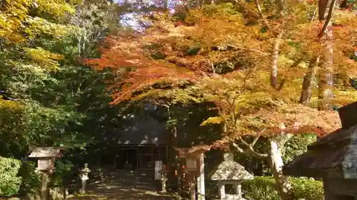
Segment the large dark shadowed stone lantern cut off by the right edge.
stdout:
<path fill-rule="evenodd" d="M 342 129 L 308 146 L 283 169 L 289 176 L 322 179 L 325 200 L 357 197 L 357 102 L 338 109 Z"/>

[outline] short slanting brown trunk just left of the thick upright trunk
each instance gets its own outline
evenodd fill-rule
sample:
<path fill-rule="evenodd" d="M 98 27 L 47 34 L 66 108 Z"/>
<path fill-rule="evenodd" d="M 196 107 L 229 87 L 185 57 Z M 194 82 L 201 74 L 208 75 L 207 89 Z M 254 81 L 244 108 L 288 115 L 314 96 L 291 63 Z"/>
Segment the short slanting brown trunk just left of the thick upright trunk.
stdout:
<path fill-rule="evenodd" d="M 308 106 L 311 100 L 311 89 L 313 86 L 313 79 L 316 76 L 316 66 L 318 66 L 320 56 L 313 56 L 308 66 L 308 71 L 303 76 L 303 88 L 300 96 L 300 104 Z"/>

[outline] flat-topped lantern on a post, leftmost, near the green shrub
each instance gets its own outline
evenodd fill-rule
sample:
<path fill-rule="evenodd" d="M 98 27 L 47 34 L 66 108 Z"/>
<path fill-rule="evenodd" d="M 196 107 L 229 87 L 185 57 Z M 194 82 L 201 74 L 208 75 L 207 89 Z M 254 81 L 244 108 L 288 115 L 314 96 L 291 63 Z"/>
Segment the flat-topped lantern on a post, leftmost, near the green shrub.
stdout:
<path fill-rule="evenodd" d="M 56 170 L 54 161 L 56 158 L 62 156 L 64 147 L 31 147 L 30 150 L 31 154 L 29 155 L 29 158 L 38 159 L 36 171 L 39 171 L 42 176 L 40 198 L 41 200 L 46 200 L 48 194 L 49 174 L 54 173 Z"/>

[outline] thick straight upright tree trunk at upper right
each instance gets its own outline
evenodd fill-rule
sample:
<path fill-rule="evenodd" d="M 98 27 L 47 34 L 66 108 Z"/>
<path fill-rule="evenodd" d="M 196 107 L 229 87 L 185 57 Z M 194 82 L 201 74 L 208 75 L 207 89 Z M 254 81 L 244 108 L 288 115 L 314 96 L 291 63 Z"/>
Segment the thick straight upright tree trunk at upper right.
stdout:
<path fill-rule="evenodd" d="M 318 109 L 331 110 L 331 99 L 333 98 L 333 31 L 331 27 L 331 17 L 336 0 L 319 1 L 318 14 L 320 20 L 325 20 L 321 33 L 318 37 L 323 47 L 323 56 L 321 58 L 319 82 L 318 82 Z"/>

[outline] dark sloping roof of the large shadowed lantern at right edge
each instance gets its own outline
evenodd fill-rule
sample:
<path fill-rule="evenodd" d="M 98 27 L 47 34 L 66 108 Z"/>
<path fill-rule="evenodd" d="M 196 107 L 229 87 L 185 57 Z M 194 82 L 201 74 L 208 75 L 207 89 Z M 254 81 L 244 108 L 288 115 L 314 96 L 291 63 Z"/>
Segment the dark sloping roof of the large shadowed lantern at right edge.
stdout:
<path fill-rule="evenodd" d="M 283 172 L 290 176 L 357 179 L 357 102 L 338 110 L 342 129 L 318 139 Z"/>

